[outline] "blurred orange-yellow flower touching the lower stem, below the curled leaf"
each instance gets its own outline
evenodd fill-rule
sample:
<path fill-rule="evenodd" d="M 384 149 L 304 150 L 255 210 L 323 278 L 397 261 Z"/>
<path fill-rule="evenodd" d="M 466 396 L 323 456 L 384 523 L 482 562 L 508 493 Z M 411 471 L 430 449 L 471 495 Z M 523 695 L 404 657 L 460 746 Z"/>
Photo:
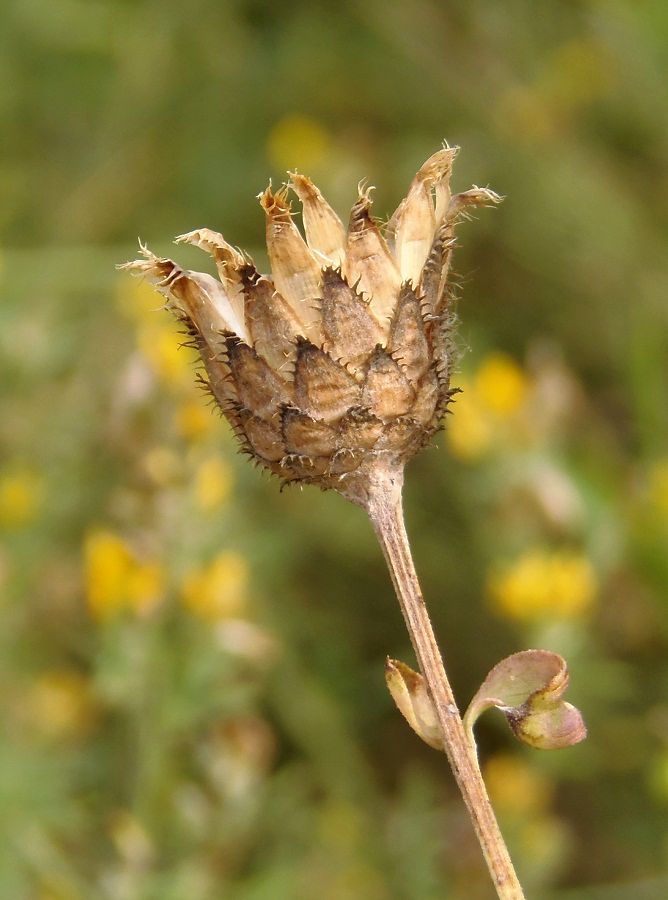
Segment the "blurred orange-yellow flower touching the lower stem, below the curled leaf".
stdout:
<path fill-rule="evenodd" d="M 552 782 L 521 757 L 497 753 L 485 763 L 484 774 L 492 803 L 501 815 L 524 818 L 549 808 Z"/>

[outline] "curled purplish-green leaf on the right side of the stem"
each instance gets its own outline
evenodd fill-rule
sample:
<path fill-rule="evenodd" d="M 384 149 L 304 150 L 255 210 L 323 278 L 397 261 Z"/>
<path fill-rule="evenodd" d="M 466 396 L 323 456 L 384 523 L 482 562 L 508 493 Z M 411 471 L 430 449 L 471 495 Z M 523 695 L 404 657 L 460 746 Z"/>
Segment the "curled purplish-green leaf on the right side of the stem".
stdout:
<path fill-rule="evenodd" d="M 523 650 L 494 666 L 471 701 L 464 724 L 473 731 L 490 706 L 505 715 L 515 737 L 539 750 L 557 750 L 584 740 L 582 714 L 562 700 L 568 687 L 566 661 L 549 650 Z"/>

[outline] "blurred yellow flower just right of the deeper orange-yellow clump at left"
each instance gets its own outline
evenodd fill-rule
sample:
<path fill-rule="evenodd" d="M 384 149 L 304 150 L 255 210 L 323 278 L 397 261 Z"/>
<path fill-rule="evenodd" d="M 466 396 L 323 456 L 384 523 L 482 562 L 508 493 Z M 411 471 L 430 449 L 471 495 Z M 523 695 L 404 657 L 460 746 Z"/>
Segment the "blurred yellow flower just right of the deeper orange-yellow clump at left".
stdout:
<path fill-rule="evenodd" d="M 181 593 L 186 609 L 208 621 L 234 618 L 246 610 L 248 567 L 238 553 L 219 553 L 202 569 L 183 580 Z"/>

